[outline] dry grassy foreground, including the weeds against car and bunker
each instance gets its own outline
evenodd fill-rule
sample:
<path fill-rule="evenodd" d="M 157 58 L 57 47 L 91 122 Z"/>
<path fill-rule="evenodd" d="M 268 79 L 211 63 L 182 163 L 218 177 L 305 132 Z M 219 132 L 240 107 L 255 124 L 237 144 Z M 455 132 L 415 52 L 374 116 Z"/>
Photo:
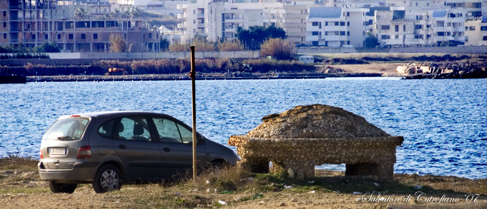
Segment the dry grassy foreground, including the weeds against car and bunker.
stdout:
<path fill-rule="evenodd" d="M 37 160 L 32 158 L 0 158 L 0 208 L 219 208 L 225 201 L 232 208 L 262 209 L 483 209 L 486 206 L 487 180 L 471 180 L 453 176 L 395 174 L 394 182 L 380 182 L 374 176 L 344 176 L 343 172 L 317 170 L 314 183 L 289 179 L 284 173 L 255 174 L 234 167 L 218 172 L 205 171 L 195 181 L 181 180 L 160 184 L 124 185 L 120 191 L 95 194 L 90 184 L 78 185 L 73 194 L 52 194 L 47 184 L 39 181 L 35 171 Z M 5 172 L 8 171 L 8 172 Z M 18 177 L 20 176 L 20 177 Z M 24 177 L 21 177 L 24 176 Z M 36 177 L 37 176 L 37 177 Z M 375 186 L 378 183 L 379 186 Z M 284 186 L 292 188 L 284 188 Z M 383 196 L 414 196 L 414 185 L 422 185 L 422 192 L 441 197 L 458 197 L 458 204 L 362 203 L 362 195 L 353 192 L 381 192 Z M 315 191 L 314 193 L 309 193 Z M 473 204 L 465 203 L 465 196 L 480 194 Z M 56 202 L 52 205 L 53 201 Z M 436 207 L 436 208 L 434 208 Z"/>

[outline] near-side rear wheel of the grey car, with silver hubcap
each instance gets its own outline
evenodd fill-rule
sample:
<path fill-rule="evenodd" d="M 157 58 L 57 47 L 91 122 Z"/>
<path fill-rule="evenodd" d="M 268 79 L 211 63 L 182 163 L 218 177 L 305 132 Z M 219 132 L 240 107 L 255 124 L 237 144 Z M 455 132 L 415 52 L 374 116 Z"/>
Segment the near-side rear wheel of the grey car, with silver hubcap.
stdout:
<path fill-rule="evenodd" d="M 122 187 L 122 174 L 113 165 L 103 165 L 98 169 L 93 181 L 93 189 L 96 193 L 104 193 L 120 190 Z"/>

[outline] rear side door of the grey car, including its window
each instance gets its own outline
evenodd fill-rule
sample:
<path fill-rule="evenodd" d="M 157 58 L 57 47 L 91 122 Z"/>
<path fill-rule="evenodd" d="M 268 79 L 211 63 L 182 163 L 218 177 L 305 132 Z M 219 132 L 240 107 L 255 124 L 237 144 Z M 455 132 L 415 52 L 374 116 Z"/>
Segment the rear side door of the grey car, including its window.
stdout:
<path fill-rule="evenodd" d="M 148 118 L 122 117 L 115 130 L 113 147 L 131 176 L 135 180 L 156 179 L 161 153 L 151 136 Z"/>

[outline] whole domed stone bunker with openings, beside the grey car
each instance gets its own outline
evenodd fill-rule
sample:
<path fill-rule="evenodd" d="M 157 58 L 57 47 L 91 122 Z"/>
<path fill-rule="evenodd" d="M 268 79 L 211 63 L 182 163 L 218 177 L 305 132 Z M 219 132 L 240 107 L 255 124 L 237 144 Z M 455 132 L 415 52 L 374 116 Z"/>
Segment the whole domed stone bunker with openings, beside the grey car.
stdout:
<path fill-rule="evenodd" d="M 346 164 L 345 175 L 377 175 L 392 180 L 395 149 L 403 137 L 391 136 L 363 117 L 324 104 L 296 106 L 262 118 L 247 135 L 228 144 L 253 172 L 285 170 L 290 177 L 315 177 L 315 166 Z"/>

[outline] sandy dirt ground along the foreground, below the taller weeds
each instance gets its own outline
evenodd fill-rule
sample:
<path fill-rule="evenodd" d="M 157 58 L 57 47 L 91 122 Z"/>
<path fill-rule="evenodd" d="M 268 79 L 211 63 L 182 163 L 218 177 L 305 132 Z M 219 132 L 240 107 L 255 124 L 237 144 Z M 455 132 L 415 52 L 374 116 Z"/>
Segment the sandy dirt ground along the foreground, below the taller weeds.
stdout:
<path fill-rule="evenodd" d="M 78 185 L 72 194 L 52 193 L 35 171 L 0 170 L 0 209 L 486 209 L 487 179 L 395 174 L 392 186 L 360 178 L 347 178 L 343 172 L 317 170 L 316 182 L 289 182 L 292 188 L 270 183 L 277 191 L 248 190 L 222 193 L 213 185 L 180 183 L 124 185 L 120 191 L 97 194 L 89 184 Z M 358 182 L 358 183 L 357 183 Z M 373 182 L 373 183 L 372 183 Z M 408 183 L 409 182 L 409 183 Z M 284 184 L 287 184 L 284 182 Z M 365 184 L 365 186 L 364 186 Z M 372 184 L 372 185 L 370 185 Z M 412 189 L 411 185 L 425 185 Z M 197 187 L 197 188 L 195 188 Z M 215 185 L 216 187 L 216 185 Z M 284 188 L 282 188 L 284 187 Z M 198 189 L 199 188 L 199 189 Z M 206 189 L 208 188 L 208 189 Z M 352 188 L 352 189 L 351 189 Z M 356 190 L 356 191 L 354 191 Z M 376 191 L 375 191 L 376 190 Z M 397 190 L 397 191 L 393 191 Z M 418 201 L 414 191 L 425 197 L 458 198 L 455 203 Z M 372 193 L 372 196 L 370 196 Z M 400 202 L 374 201 L 370 197 L 399 198 Z M 472 195 L 470 195 L 472 194 Z M 475 195 L 478 194 L 478 195 Z M 411 199 L 404 199 L 411 195 Z M 468 197 L 470 201 L 468 202 Z M 476 198 L 473 201 L 473 198 Z M 223 201 L 223 202 L 222 202 Z"/>

